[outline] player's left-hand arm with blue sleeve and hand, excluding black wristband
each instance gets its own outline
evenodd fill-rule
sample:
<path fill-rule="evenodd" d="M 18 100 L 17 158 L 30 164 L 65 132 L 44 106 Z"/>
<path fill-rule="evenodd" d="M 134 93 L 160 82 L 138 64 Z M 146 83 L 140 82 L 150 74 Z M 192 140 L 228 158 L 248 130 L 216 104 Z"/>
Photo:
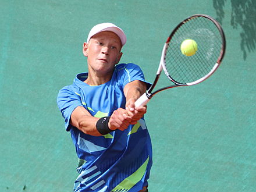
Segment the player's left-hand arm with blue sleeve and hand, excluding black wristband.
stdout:
<path fill-rule="evenodd" d="M 95 118 L 83 107 L 81 103 L 81 97 L 76 87 L 66 86 L 63 87 L 58 94 L 57 104 L 65 118 L 65 126 L 69 131 L 69 125 L 72 125 L 83 131 L 83 133 L 90 134 L 92 136 L 101 136 L 97 130 L 96 123 L 99 118 Z M 76 106 L 74 108 L 74 106 Z M 127 116 L 125 109 L 119 108 L 113 111 L 111 118 L 108 122 L 108 127 L 111 130 L 119 129 L 125 130 L 129 126 L 131 118 Z"/>

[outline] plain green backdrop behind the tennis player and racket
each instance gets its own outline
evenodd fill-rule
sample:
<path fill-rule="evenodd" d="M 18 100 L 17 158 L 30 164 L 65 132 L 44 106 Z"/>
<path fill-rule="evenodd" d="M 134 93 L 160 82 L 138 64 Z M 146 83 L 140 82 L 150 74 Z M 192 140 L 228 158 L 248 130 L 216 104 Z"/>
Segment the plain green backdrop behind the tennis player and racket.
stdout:
<path fill-rule="evenodd" d="M 226 55 L 204 83 L 148 104 L 149 190 L 256 191 L 254 0 L 0 0 L 0 13 L 0 191 L 72 191 L 77 158 L 56 96 L 87 71 L 91 27 L 120 26 L 121 62 L 152 81 L 170 31 L 195 13 L 222 24 Z"/>

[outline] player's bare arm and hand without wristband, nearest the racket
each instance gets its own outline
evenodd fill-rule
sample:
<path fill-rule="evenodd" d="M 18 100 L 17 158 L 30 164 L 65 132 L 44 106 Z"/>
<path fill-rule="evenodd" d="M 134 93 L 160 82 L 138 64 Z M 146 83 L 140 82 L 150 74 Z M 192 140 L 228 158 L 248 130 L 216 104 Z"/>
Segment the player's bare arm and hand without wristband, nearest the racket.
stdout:
<path fill-rule="evenodd" d="M 135 107 L 134 102 L 145 93 L 147 90 L 146 83 L 143 81 L 135 80 L 127 83 L 123 92 L 126 97 L 126 111 L 132 118 L 131 124 L 136 124 L 137 120 L 141 119 L 147 112 L 147 106 Z"/>

